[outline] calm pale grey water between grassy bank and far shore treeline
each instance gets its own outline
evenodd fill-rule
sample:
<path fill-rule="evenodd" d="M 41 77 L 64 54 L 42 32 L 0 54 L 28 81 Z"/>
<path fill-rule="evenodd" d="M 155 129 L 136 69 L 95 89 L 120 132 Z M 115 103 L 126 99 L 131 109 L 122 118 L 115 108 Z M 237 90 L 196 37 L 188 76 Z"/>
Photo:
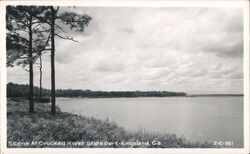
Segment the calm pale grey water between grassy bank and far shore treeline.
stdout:
<path fill-rule="evenodd" d="M 243 147 L 243 97 L 57 98 L 64 112 L 115 121 L 130 131 L 175 133 Z"/>

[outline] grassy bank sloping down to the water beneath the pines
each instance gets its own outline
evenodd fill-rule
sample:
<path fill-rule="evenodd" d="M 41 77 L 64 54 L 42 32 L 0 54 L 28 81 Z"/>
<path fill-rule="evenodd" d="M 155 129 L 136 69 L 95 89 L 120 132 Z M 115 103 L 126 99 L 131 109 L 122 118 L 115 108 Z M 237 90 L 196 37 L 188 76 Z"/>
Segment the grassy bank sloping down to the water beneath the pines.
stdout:
<path fill-rule="evenodd" d="M 8 147 L 212 147 L 208 143 L 191 143 L 175 134 L 129 132 L 114 122 L 61 112 L 59 108 L 57 114 L 52 116 L 49 104 L 36 103 L 35 111 L 28 113 L 28 102 L 25 100 L 8 99 Z"/>

